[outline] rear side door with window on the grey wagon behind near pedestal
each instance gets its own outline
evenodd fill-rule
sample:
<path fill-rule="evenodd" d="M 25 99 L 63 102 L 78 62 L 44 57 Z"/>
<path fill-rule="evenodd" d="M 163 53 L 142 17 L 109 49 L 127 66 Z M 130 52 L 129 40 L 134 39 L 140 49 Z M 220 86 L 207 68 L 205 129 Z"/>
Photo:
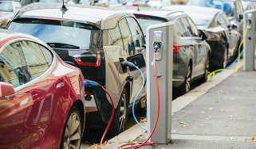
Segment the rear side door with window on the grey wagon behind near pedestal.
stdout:
<path fill-rule="evenodd" d="M 182 17 L 183 25 L 186 30 L 187 37 L 185 39 L 186 47 L 191 50 L 192 59 L 192 75 L 194 78 L 199 74 L 199 44 L 192 37 L 191 25 L 187 21 L 187 16 Z"/>

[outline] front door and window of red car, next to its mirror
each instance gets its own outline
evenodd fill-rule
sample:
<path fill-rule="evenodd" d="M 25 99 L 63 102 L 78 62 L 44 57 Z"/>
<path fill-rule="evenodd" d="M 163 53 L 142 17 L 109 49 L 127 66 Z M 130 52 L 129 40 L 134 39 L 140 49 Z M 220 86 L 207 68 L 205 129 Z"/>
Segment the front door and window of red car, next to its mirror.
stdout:
<path fill-rule="evenodd" d="M 24 86 L 31 81 L 31 76 L 18 42 L 2 48 L 0 65 L 1 81 L 10 83 L 15 89 L 13 97 L 0 99 L 0 148 L 30 148 L 31 139 L 40 134 L 27 121 L 33 96 Z"/>

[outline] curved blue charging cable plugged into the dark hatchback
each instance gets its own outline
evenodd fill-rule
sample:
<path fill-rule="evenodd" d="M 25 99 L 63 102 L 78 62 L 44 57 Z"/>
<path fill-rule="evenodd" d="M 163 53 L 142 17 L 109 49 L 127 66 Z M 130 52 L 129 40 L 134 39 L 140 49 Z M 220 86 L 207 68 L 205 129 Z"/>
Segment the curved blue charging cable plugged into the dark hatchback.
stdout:
<path fill-rule="evenodd" d="M 138 70 L 138 71 L 140 72 L 140 75 L 141 75 L 141 77 L 142 77 L 142 85 L 141 85 L 140 90 L 139 90 L 138 93 L 136 94 L 136 97 L 135 97 L 135 99 L 134 99 L 134 101 L 133 101 L 133 103 L 132 103 L 132 117 L 133 117 L 134 120 L 136 121 L 136 124 L 138 124 L 138 125 L 140 126 L 140 128 L 142 128 L 144 131 L 147 132 L 147 128 L 144 128 L 144 126 L 142 126 L 142 125 L 140 124 L 140 122 L 137 120 L 136 115 L 135 115 L 135 105 L 136 105 L 136 101 L 138 100 L 138 97 L 140 96 L 140 93 L 141 93 L 141 91 L 142 91 L 143 88 L 144 88 L 144 82 L 145 82 L 144 74 L 143 74 L 143 72 L 140 70 L 140 68 L 137 67 L 134 63 L 131 63 L 131 62 L 128 62 L 128 61 L 127 61 L 127 62 L 122 62 L 121 65 L 124 66 L 124 67 L 134 67 L 134 68 L 136 68 L 136 70 Z"/>

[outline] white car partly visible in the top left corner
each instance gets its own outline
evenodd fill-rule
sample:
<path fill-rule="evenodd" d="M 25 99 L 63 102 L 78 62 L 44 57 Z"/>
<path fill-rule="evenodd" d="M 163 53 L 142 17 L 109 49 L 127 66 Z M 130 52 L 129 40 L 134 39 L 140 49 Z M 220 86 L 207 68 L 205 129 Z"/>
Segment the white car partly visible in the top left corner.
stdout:
<path fill-rule="evenodd" d="M 1 28 L 4 28 L 8 21 L 10 21 L 11 17 L 14 16 L 14 13 L 16 13 L 21 8 L 20 2 L 16 1 L 10 1 L 10 0 L 0 0 L 0 25 Z"/>

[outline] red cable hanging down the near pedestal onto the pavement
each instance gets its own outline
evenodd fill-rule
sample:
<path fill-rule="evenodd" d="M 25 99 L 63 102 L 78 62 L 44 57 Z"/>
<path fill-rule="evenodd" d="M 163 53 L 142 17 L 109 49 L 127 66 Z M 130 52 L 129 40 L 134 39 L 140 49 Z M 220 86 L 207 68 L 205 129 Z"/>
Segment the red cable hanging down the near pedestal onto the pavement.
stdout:
<path fill-rule="evenodd" d="M 157 73 L 156 73 L 156 52 L 154 52 L 153 55 L 153 61 L 154 61 L 154 72 L 155 72 L 155 80 L 156 80 L 156 91 L 157 91 L 157 115 L 156 115 L 156 121 L 154 124 L 154 128 L 152 130 L 152 132 L 150 133 L 150 135 L 148 136 L 148 138 L 144 141 L 144 142 L 140 142 L 140 143 L 125 143 L 123 145 L 121 145 L 119 148 L 120 149 L 128 149 L 128 148 L 140 148 L 142 146 L 146 146 L 146 145 L 152 145 L 153 142 L 148 142 L 148 140 L 152 137 L 153 133 L 156 130 L 156 124 L 158 122 L 158 118 L 160 115 L 160 89 L 159 89 L 159 83 L 158 83 L 158 78 L 157 78 Z M 125 146 L 130 146 L 130 147 L 125 147 Z M 124 147 L 124 148 L 123 148 Z"/>

